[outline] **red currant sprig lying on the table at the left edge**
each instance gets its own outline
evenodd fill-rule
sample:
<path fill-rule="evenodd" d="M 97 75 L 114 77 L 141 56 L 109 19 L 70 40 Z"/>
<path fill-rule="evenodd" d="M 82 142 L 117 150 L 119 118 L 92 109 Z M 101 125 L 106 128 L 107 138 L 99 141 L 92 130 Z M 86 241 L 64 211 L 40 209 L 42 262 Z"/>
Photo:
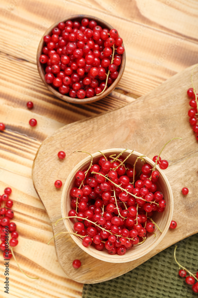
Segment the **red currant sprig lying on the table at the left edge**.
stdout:
<path fill-rule="evenodd" d="M 14 212 L 10 209 L 13 205 L 13 201 L 9 199 L 11 193 L 11 188 L 6 187 L 4 189 L 4 194 L 0 196 L 0 202 L 3 204 L 3 207 L 0 209 L 0 248 L 4 252 L 4 259 L 10 259 L 12 257 L 9 246 L 14 247 L 18 244 L 18 233 L 16 232 L 17 226 L 14 222 L 10 222 L 10 219 L 14 216 Z M 9 232 L 11 233 L 11 239 L 9 239 Z"/>

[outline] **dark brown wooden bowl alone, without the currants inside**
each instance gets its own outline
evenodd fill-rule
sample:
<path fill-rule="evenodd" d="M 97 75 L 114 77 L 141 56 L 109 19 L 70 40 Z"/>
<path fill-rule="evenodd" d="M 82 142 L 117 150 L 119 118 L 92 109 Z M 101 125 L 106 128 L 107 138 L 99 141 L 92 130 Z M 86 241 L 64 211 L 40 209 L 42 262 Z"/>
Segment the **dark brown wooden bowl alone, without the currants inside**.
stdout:
<path fill-rule="evenodd" d="M 101 20 L 100 18 L 91 16 L 91 15 L 70 15 L 70 16 L 68 16 L 68 17 L 54 23 L 49 29 L 46 30 L 46 32 L 44 33 L 43 36 L 51 34 L 53 28 L 56 27 L 58 25 L 58 23 L 60 23 L 60 22 L 66 22 L 68 20 L 81 21 L 83 18 L 88 18 L 89 20 L 90 19 L 95 20 L 97 22 L 97 24 L 100 25 L 102 28 L 105 27 L 109 30 L 113 29 L 113 27 L 110 24 L 108 24 L 107 22 Z M 118 85 L 118 83 L 119 83 L 119 81 L 120 81 L 120 79 L 123 75 L 123 72 L 124 72 L 124 67 L 125 67 L 125 62 L 126 62 L 125 52 L 122 54 L 122 61 L 121 61 L 121 65 L 119 66 L 118 77 L 111 84 L 111 86 L 109 86 L 109 88 L 107 88 L 107 90 L 104 91 L 102 94 L 100 94 L 98 96 L 89 97 L 89 98 L 79 99 L 79 98 L 72 98 L 72 97 L 69 97 L 69 96 L 66 96 L 66 95 L 63 95 L 63 94 L 59 93 L 55 88 L 53 88 L 53 86 L 51 86 L 51 84 L 47 84 L 45 82 L 45 66 L 42 63 L 40 63 L 40 61 L 39 61 L 39 57 L 42 54 L 42 48 L 45 44 L 45 42 L 43 41 L 43 36 L 41 38 L 41 41 L 39 43 L 39 47 L 38 47 L 38 50 L 37 50 L 37 67 L 38 67 L 39 75 L 40 75 L 43 83 L 47 87 L 47 89 L 49 89 L 54 95 L 56 95 L 60 99 L 65 100 L 69 103 L 78 103 L 78 104 L 93 103 L 94 101 L 100 100 L 100 99 L 104 98 L 105 96 L 107 96 Z"/>

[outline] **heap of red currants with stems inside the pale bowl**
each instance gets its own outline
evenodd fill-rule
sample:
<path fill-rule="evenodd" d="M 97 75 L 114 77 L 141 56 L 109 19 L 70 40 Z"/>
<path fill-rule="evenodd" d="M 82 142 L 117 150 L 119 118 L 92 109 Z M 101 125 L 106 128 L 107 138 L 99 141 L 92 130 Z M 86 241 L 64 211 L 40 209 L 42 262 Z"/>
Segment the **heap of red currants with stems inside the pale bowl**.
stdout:
<path fill-rule="evenodd" d="M 159 162 L 161 168 L 167 168 L 167 161 L 159 157 Z M 134 165 L 118 155 L 102 156 L 89 169 L 76 173 L 68 217 L 78 220 L 75 235 L 83 239 L 84 246 L 94 244 L 97 250 L 105 248 L 109 254 L 124 255 L 144 242 L 147 232 L 154 232 L 157 224 L 151 216 L 155 211 L 163 212 L 166 201 L 157 190 L 159 172 L 155 167 L 145 163 L 141 172 L 137 175 Z"/>

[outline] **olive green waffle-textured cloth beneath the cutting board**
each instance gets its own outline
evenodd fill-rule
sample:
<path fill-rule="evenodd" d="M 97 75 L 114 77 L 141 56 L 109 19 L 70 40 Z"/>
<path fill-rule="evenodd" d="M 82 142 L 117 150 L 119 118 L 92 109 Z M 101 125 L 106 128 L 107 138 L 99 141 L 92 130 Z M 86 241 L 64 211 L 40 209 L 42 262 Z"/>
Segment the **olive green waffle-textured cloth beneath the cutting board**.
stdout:
<path fill-rule="evenodd" d="M 178 262 L 193 274 L 198 271 L 198 234 L 176 243 Z M 176 245 L 175 244 L 175 245 Z M 174 259 L 175 245 L 156 254 L 126 274 L 83 287 L 83 298 L 194 298 L 191 285 L 178 275 L 179 267 Z"/>

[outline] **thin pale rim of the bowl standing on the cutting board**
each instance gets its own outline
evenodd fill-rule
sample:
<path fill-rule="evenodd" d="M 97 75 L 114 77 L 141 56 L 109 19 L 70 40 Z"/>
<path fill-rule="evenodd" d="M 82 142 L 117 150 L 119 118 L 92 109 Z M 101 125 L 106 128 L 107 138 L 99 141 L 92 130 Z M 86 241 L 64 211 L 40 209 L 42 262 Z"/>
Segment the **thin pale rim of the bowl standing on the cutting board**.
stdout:
<path fill-rule="evenodd" d="M 101 150 L 102 153 L 106 153 L 107 152 L 109 153 L 109 151 L 120 151 L 122 152 L 123 150 L 125 149 L 122 149 L 122 148 L 111 148 L 111 149 L 106 149 L 106 150 Z M 125 153 L 131 153 L 133 150 L 126 150 Z M 143 154 L 137 152 L 137 151 L 133 151 L 134 155 L 136 156 L 142 156 Z M 94 154 L 92 154 L 93 158 L 97 158 L 99 156 L 101 156 L 101 153 L 100 152 L 96 152 Z M 155 163 L 147 156 L 144 157 L 145 161 L 150 163 L 151 165 L 154 165 Z M 62 217 L 64 218 L 66 216 L 66 204 L 64 204 L 64 198 L 65 198 L 65 192 L 66 192 L 66 189 L 67 189 L 67 181 L 69 181 L 76 173 L 76 170 L 79 168 L 79 167 L 82 167 L 83 164 L 85 164 L 86 162 L 88 161 L 91 161 L 91 157 L 90 156 L 87 156 L 85 157 L 83 160 L 81 160 L 74 168 L 73 170 L 69 173 L 67 179 L 66 179 L 66 182 L 64 184 L 64 187 L 63 187 L 63 191 L 62 191 L 62 195 L 61 195 L 61 214 L 62 214 Z M 171 186 L 170 186 L 170 183 L 166 177 L 166 175 L 163 173 L 163 171 L 158 167 L 157 170 L 160 172 L 160 176 L 162 176 L 162 178 L 164 179 L 166 185 L 167 185 L 167 189 L 168 189 L 168 193 L 169 193 L 169 198 L 170 198 L 170 212 L 169 212 L 169 215 L 168 215 L 168 218 L 166 219 L 166 226 L 165 228 L 163 229 L 163 231 L 160 233 L 159 237 L 156 239 L 156 241 L 154 243 L 151 244 L 151 246 L 149 246 L 149 248 L 146 248 L 145 249 L 145 252 L 141 253 L 141 254 L 138 254 L 136 253 L 136 256 L 135 257 L 129 257 L 127 256 L 126 254 L 123 255 L 123 256 L 118 256 L 117 258 L 115 258 L 114 256 L 116 255 L 108 255 L 108 257 L 104 257 L 104 256 L 101 256 L 100 255 L 100 251 L 96 250 L 96 252 L 92 251 L 91 249 L 89 249 L 89 247 L 85 247 L 83 246 L 83 244 L 81 242 L 79 242 L 79 238 L 76 237 L 75 235 L 72 235 L 72 234 L 69 234 L 70 237 L 75 241 L 75 243 L 81 248 L 83 249 L 86 253 L 90 254 L 92 257 L 95 257 L 96 259 L 99 259 L 99 260 L 102 260 L 102 261 L 105 261 L 105 262 L 109 262 L 109 263 L 126 263 L 126 262 L 130 262 L 132 260 L 136 260 L 140 257 L 143 257 L 145 254 L 148 254 L 149 252 L 151 252 L 151 250 L 153 250 L 160 242 L 161 240 L 164 238 L 164 236 L 166 235 L 168 229 L 169 229 L 169 226 L 170 226 L 170 223 L 171 223 L 171 220 L 172 220 L 172 215 L 173 215 L 173 205 L 174 205 L 174 201 L 173 201 L 173 194 L 172 194 L 172 189 L 171 189 Z M 70 228 L 69 228 L 69 225 L 67 223 L 69 219 L 63 219 L 64 221 L 64 225 L 66 227 L 66 230 L 69 231 Z M 113 257 L 113 258 L 112 258 Z"/>

